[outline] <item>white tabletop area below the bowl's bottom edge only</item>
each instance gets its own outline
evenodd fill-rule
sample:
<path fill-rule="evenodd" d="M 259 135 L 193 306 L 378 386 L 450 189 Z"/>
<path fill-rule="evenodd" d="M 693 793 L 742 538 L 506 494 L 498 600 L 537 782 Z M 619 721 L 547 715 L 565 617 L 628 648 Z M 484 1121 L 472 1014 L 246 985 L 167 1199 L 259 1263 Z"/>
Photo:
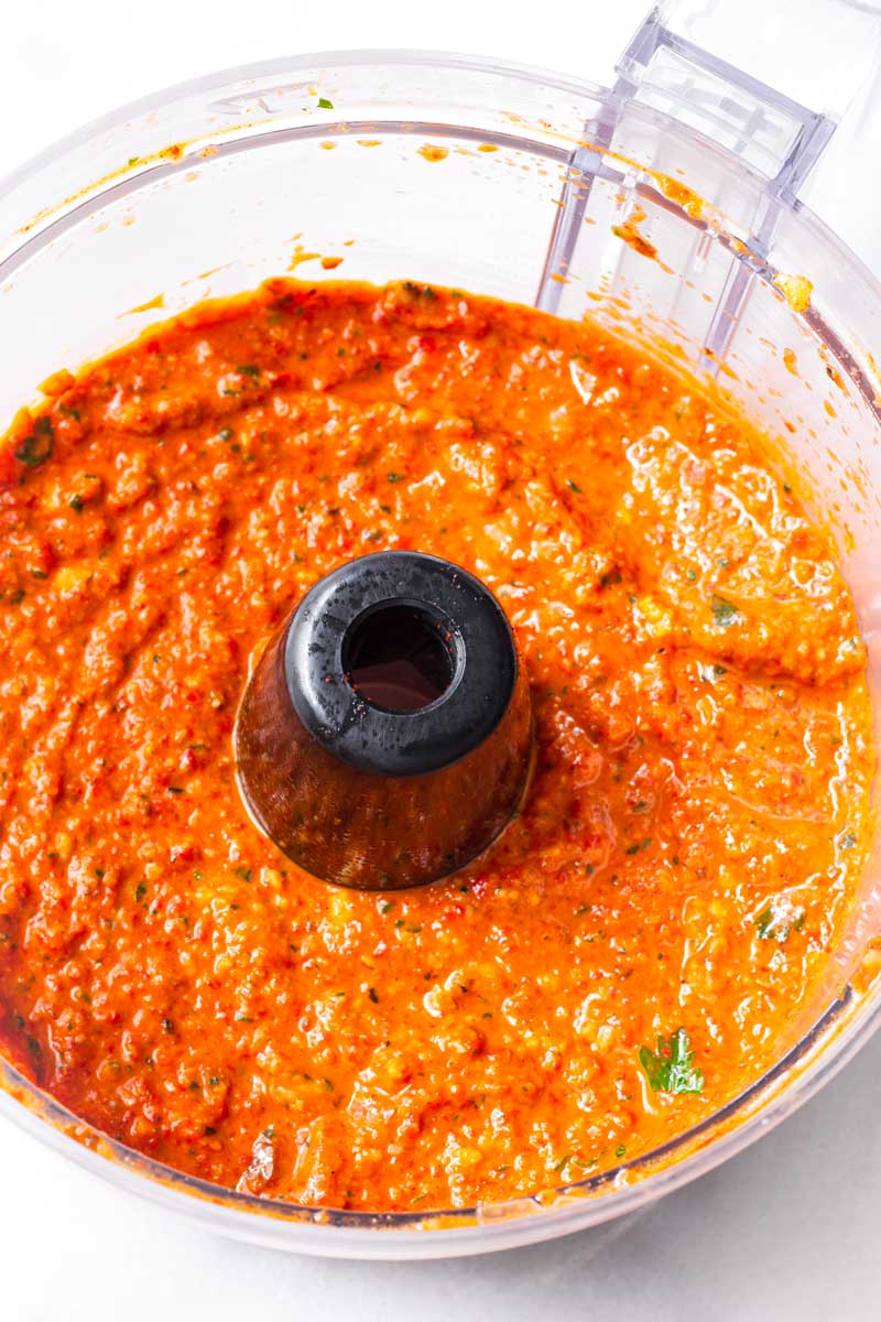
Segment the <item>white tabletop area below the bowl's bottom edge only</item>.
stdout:
<path fill-rule="evenodd" d="M 808 1107 L 627 1222 L 448 1263 L 227 1243 L 0 1128 L 4 1322 L 874 1322 L 881 1035 Z"/>

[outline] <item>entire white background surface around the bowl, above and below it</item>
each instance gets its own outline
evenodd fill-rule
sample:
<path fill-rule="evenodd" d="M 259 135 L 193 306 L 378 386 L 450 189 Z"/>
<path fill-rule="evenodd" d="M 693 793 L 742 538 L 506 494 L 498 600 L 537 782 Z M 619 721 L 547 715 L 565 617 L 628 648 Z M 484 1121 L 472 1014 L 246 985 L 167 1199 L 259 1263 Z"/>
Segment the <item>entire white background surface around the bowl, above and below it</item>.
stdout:
<path fill-rule="evenodd" d="M 539 11 L 518 16 L 514 5 L 481 0 L 442 7 L 30 0 L 16 5 L 15 17 L 4 16 L 0 175 L 155 87 L 295 50 L 433 46 L 606 82 L 646 7 L 647 0 L 614 7 L 546 0 L 539 21 Z M 810 0 L 804 9 L 807 19 Z M 816 209 L 876 271 L 881 204 L 872 202 L 869 161 L 881 141 L 877 91 L 872 103 L 863 98 L 811 189 Z M 856 149 L 863 169 L 853 164 L 855 130 L 864 135 Z M 783 1128 L 630 1222 L 515 1253 L 424 1265 L 285 1257 L 214 1239 L 125 1198 L 0 1121 L 0 1318 L 877 1318 L 880 1076 L 877 1038 Z"/>

